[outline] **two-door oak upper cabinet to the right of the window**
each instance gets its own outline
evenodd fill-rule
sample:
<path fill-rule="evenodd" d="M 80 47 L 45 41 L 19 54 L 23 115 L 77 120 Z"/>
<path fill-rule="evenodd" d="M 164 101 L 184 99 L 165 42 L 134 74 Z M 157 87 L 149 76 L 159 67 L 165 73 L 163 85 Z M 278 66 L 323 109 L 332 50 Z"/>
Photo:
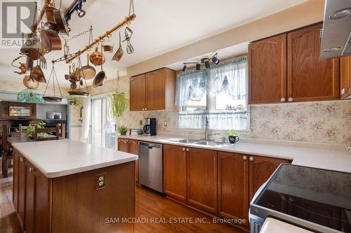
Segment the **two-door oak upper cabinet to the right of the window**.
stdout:
<path fill-rule="evenodd" d="M 319 59 L 320 29 L 249 44 L 249 104 L 339 99 L 339 59 Z"/>

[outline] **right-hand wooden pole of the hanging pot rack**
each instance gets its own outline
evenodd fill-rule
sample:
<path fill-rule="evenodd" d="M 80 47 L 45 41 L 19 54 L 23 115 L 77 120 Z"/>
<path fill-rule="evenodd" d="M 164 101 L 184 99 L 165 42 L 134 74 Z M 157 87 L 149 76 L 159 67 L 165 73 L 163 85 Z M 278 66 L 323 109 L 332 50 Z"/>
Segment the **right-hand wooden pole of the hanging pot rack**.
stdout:
<path fill-rule="evenodd" d="M 95 41 L 93 41 L 89 45 L 86 45 L 86 47 L 84 47 L 82 50 L 78 50 L 77 52 L 73 52 L 73 53 L 71 53 L 69 55 L 65 55 L 65 56 L 60 57 L 58 59 L 54 59 L 52 62 L 55 63 L 55 62 L 65 61 L 67 64 L 72 62 L 72 60 L 76 59 L 77 57 L 79 57 L 84 52 L 90 50 L 94 45 L 98 45 L 98 43 L 102 43 L 103 41 L 105 41 L 105 38 L 109 38 L 110 36 L 112 36 L 114 31 L 117 31 L 121 27 L 124 27 L 124 25 L 126 25 L 126 24 L 130 24 L 133 20 L 135 20 L 135 17 L 136 17 L 135 14 L 129 15 L 128 17 L 125 17 L 123 21 L 119 22 L 119 24 L 117 24 L 116 26 L 112 27 L 112 29 L 110 29 L 109 31 L 106 31 L 105 34 L 103 34 L 103 35 L 99 36 L 98 38 L 96 38 Z"/>

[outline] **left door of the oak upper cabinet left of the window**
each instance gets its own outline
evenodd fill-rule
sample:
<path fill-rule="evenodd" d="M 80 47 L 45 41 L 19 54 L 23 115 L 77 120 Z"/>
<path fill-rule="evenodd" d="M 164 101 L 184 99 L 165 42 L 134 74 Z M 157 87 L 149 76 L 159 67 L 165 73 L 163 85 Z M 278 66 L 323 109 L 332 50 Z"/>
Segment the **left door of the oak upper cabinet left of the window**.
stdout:
<path fill-rule="evenodd" d="M 129 80 L 129 110 L 143 111 L 146 107 L 145 74 Z"/>

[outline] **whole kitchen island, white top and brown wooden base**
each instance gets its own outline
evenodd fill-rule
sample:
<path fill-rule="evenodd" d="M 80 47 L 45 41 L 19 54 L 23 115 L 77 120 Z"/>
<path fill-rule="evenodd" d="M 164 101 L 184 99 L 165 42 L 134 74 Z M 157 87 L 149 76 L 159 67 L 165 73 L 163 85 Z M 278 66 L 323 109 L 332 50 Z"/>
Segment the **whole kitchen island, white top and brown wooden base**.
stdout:
<path fill-rule="evenodd" d="M 133 232 L 138 156 L 72 140 L 13 143 L 25 232 Z M 111 221 L 113 219 L 114 221 Z"/>

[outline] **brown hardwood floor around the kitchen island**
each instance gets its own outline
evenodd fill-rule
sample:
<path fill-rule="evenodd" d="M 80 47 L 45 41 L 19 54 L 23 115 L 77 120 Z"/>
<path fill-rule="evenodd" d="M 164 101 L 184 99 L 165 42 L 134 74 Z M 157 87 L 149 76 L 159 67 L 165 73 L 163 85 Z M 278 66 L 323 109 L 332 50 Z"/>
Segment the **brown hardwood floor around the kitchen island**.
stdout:
<path fill-rule="evenodd" d="M 1 160 L 0 160 L 1 162 Z M 20 223 L 12 205 L 12 170 L 9 169 L 8 178 L 0 175 L 0 233 L 20 233 Z M 212 218 L 204 213 L 183 206 L 171 199 L 147 190 L 135 188 L 135 218 L 147 220 L 147 223 L 135 223 L 135 233 L 243 233 L 225 224 L 212 223 Z M 206 218 L 210 223 L 169 223 L 180 218 L 183 220 Z M 167 220 L 168 223 L 155 223 L 157 220 Z M 152 220 L 154 221 L 152 223 Z"/>

